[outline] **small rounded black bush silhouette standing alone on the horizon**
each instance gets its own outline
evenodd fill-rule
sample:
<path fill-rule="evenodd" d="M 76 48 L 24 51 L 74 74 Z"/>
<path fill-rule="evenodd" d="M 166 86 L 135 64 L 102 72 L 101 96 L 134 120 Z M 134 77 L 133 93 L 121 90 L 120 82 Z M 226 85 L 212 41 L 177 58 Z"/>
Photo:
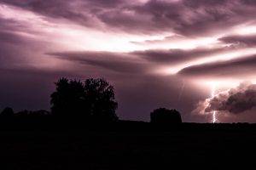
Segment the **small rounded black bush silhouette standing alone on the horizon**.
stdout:
<path fill-rule="evenodd" d="M 177 124 L 181 123 L 182 119 L 180 113 L 176 110 L 159 108 L 150 113 L 150 122 Z"/>

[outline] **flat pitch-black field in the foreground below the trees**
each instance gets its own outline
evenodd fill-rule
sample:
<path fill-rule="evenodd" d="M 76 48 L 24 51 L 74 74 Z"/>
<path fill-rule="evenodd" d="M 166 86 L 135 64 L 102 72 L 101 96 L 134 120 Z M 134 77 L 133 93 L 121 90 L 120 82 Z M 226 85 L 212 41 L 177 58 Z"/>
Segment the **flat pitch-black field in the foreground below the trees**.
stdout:
<path fill-rule="evenodd" d="M 128 122 L 102 130 L 2 130 L 0 138 L 2 169 L 244 169 L 256 164 L 256 127 L 247 124 Z"/>

